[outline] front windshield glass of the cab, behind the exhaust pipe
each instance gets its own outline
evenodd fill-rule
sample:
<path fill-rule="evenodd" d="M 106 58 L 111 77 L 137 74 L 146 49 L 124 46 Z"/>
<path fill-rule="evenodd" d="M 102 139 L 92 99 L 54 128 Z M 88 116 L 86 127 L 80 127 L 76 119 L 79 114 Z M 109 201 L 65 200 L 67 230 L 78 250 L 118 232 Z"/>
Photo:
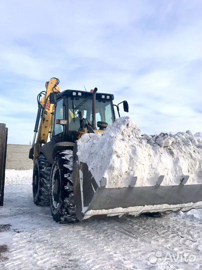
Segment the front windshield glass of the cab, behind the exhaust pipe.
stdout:
<path fill-rule="evenodd" d="M 79 121 L 79 111 L 83 118 L 87 118 L 89 123 L 92 124 L 92 97 L 85 100 L 85 98 L 71 97 L 68 98 L 68 108 L 69 108 L 69 130 L 78 130 L 80 127 Z M 114 122 L 114 114 L 112 110 L 111 100 L 106 99 L 96 99 L 96 128 L 97 121 L 104 121 L 108 124 Z M 78 108 L 77 108 L 78 107 Z"/>

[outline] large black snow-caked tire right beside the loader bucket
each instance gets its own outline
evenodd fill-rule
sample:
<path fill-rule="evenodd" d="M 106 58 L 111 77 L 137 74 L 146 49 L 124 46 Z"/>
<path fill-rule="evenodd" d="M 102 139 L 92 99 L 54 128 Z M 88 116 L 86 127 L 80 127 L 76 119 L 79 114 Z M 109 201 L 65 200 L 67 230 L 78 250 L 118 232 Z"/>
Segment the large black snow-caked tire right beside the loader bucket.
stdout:
<path fill-rule="evenodd" d="M 75 223 L 78 221 L 75 214 L 72 171 L 72 150 L 57 153 L 50 175 L 50 208 L 56 222 Z"/>

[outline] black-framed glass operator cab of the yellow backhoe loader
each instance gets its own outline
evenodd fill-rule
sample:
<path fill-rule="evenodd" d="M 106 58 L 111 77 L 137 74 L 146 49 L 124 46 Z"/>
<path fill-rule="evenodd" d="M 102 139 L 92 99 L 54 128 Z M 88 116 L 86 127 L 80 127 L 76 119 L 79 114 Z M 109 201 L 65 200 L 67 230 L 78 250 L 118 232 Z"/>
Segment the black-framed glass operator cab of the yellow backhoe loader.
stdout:
<path fill-rule="evenodd" d="M 81 122 L 86 121 L 92 127 L 92 92 L 79 90 L 65 90 L 57 94 L 55 108 L 50 129 L 50 138 L 63 133 L 78 131 Z M 50 97 L 51 99 L 51 97 Z M 103 130 L 108 124 L 115 121 L 115 112 L 112 100 L 113 94 L 96 93 L 95 115 L 96 129 Z M 65 120 L 65 124 L 60 123 Z"/>

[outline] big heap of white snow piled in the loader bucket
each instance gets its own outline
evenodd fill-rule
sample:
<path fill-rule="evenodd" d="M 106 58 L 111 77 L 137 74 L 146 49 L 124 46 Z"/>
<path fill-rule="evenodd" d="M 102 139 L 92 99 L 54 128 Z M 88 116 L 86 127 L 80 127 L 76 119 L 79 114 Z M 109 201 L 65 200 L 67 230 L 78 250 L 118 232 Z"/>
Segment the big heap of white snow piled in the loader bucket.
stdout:
<path fill-rule="evenodd" d="M 134 181 L 136 186 L 150 186 L 160 175 L 165 175 L 162 185 L 178 185 L 186 175 L 190 176 L 186 184 L 202 183 L 202 132 L 141 135 L 133 120 L 124 116 L 104 134 L 83 134 L 77 155 L 99 186 L 103 177 L 109 188 Z"/>

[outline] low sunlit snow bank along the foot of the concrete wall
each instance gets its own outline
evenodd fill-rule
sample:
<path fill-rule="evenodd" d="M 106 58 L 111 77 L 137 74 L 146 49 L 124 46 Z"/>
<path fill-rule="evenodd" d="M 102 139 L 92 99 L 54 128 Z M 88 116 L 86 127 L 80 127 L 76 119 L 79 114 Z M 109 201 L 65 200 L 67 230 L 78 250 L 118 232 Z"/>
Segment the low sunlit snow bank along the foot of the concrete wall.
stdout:
<path fill-rule="evenodd" d="M 32 172 L 33 172 L 33 169 L 26 169 L 26 170 L 6 169 L 5 170 L 5 184 L 31 183 Z"/>

